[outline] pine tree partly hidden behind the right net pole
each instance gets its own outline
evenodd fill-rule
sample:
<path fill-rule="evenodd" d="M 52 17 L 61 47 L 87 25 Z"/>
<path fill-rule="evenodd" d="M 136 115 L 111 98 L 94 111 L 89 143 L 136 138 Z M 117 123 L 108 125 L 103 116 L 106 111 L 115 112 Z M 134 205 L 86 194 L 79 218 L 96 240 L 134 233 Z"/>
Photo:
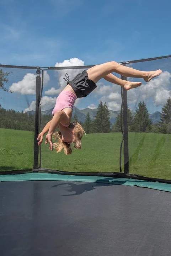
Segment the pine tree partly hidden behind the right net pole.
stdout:
<path fill-rule="evenodd" d="M 130 107 L 127 105 L 127 115 L 128 115 L 128 131 L 132 131 L 133 115 Z M 123 124 L 123 110 L 122 110 L 122 124 Z M 121 113 L 118 114 L 116 122 L 112 126 L 112 132 L 121 132 Z"/>

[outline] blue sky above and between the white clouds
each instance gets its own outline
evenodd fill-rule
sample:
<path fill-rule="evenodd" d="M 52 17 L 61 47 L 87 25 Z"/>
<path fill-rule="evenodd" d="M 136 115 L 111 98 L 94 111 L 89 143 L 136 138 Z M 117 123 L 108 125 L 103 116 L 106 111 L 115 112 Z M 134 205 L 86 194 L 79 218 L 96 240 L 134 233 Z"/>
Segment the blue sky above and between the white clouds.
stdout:
<path fill-rule="evenodd" d="M 111 60 L 121 62 L 170 55 L 170 10 L 169 0 L 1 0 L 0 63 L 54 66 L 78 58 L 85 65 L 93 65 Z M 160 66 L 156 65 L 156 68 Z M 165 70 L 171 73 L 167 67 Z M 7 87 L 22 81 L 27 72 L 34 73 L 33 70 L 15 70 Z M 52 76 L 57 77 L 50 74 L 44 92 L 55 87 Z M 27 77 L 25 81 L 28 81 Z M 105 82 L 100 88 L 108 85 Z M 56 86 L 62 87 L 58 82 Z M 170 91 L 168 86 L 163 87 L 167 92 Z M 117 87 L 111 88 L 113 93 L 119 94 Z M 18 111 L 28 107 L 26 95 L 30 104 L 35 100 L 34 94 L 1 95 L 4 97 L 1 100 L 3 107 Z M 85 103 L 78 102 L 77 107 L 97 106 L 102 97 L 107 101 L 109 95 L 105 95 L 106 98 L 91 95 Z M 117 95 L 113 96 L 113 110 L 118 110 L 117 99 Z M 149 102 L 150 107 L 154 98 Z M 51 103 L 53 105 L 53 100 Z M 160 110 L 161 106 L 156 105 L 156 109 Z"/>

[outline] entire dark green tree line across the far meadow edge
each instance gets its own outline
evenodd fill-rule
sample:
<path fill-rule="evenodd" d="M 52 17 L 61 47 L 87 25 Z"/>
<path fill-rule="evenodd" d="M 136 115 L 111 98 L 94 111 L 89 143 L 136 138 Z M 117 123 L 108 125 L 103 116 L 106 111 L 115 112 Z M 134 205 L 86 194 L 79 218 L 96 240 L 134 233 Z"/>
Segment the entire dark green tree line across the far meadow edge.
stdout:
<path fill-rule="evenodd" d="M 148 109 L 144 101 L 138 103 L 135 115 L 133 116 L 130 108 L 128 112 L 128 132 L 148 132 L 148 133 L 168 133 L 171 134 L 171 98 L 162 107 L 160 121 L 153 124 L 149 118 Z M 52 119 L 52 115 L 41 116 L 41 130 Z M 75 114 L 71 122 L 78 120 Z M 34 131 L 35 114 L 23 113 L 14 110 L 5 110 L 0 108 L 0 128 Z M 93 120 L 87 113 L 85 122 L 79 122 L 87 134 L 89 133 L 109 133 L 121 132 L 121 114 L 118 114 L 116 122 L 112 125 L 110 122 L 110 113 L 106 103 L 100 102 L 97 108 L 96 116 Z M 123 113 L 122 113 L 123 124 Z"/>

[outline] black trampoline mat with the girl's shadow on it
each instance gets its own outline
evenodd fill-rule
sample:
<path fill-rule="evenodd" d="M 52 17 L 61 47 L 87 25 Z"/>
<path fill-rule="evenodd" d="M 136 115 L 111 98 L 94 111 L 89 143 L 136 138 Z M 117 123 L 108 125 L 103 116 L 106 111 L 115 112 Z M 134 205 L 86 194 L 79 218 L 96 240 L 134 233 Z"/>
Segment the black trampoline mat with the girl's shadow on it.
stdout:
<path fill-rule="evenodd" d="M 1 256 L 170 256 L 171 193 L 95 182 L 0 182 Z"/>

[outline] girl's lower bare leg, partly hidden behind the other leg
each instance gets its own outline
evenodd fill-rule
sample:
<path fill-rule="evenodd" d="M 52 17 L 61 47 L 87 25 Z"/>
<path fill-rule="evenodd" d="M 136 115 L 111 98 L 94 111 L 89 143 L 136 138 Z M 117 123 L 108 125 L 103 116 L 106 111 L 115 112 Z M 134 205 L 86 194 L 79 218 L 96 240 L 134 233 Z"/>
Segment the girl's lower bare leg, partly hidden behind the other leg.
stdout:
<path fill-rule="evenodd" d="M 141 82 L 130 82 L 130 81 L 122 80 L 120 78 L 117 78 L 117 76 L 114 76 L 113 74 L 108 74 L 107 76 L 104 77 L 104 79 L 109 82 L 112 82 L 113 84 L 117 84 L 124 87 L 124 89 L 127 91 L 130 89 L 136 88 L 142 84 Z"/>

